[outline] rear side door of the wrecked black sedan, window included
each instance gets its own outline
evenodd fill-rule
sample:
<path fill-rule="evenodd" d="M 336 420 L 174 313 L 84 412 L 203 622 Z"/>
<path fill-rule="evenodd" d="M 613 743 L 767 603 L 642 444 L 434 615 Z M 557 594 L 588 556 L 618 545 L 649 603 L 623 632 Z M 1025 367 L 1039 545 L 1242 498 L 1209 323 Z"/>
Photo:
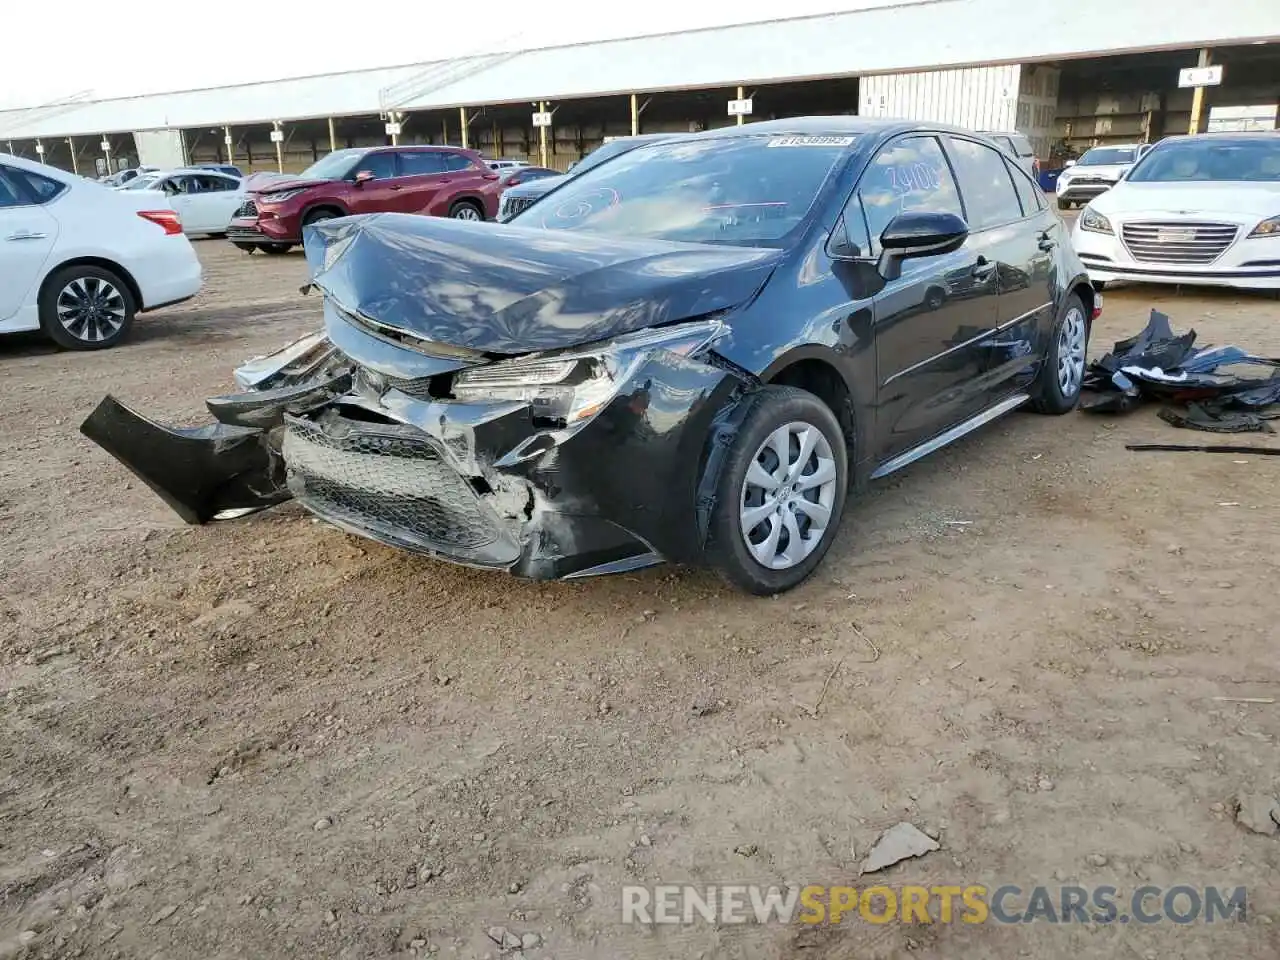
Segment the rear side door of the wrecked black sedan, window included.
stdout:
<path fill-rule="evenodd" d="M 1052 251 L 1065 241 L 1064 228 L 1038 201 L 1027 174 L 1000 151 L 954 134 L 945 143 L 969 229 L 996 264 L 997 325 L 980 344 L 995 399 L 1009 393 L 1010 379 L 1034 366 L 1041 353 L 1038 332 L 1053 320 Z"/>

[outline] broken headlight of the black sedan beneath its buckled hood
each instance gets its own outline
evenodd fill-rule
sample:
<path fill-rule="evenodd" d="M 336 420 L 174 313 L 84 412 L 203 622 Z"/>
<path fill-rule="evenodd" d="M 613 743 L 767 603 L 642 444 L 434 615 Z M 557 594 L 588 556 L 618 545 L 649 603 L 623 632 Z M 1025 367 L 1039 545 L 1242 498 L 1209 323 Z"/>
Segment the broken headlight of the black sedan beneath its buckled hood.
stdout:
<path fill-rule="evenodd" d="M 662 349 L 687 357 L 724 329 L 718 320 L 699 320 L 499 361 L 460 372 L 453 379 L 453 396 L 460 401 L 521 401 L 532 407 L 535 420 L 571 426 L 600 412 L 649 353 Z"/>

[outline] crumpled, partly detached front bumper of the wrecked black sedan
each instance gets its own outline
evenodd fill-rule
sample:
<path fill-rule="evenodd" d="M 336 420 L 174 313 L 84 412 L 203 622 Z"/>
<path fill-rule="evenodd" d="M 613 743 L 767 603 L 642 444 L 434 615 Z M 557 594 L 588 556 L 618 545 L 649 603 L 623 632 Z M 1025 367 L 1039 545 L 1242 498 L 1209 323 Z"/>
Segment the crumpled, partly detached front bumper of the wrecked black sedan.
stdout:
<path fill-rule="evenodd" d="M 342 321 L 330 320 L 330 326 Z M 667 351 L 572 430 L 518 401 L 435 399 L 424 356 L 353 326 L 292 383 L 215 398 L 219 422 L 154 424 L 113 398 L 82 431 L 191 524 L 297 499 L 381 543 L 532 579 L 696 562 L 717 424 L 749 384 Z M 332 348 L 330 348 L 332 349 Z"/>

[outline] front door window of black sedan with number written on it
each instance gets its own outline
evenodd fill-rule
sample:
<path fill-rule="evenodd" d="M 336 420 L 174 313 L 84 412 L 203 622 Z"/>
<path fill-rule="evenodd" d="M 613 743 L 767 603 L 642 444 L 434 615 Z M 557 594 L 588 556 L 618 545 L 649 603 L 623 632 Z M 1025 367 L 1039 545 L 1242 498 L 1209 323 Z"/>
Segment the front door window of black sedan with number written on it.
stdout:
<path fill-rule="evenodd" d="M 884 146 L 863 174 L 858 195 L 872 252 L 878 252 L 881 234 L 899 214 L 920 210 L 964 216 L 960 192 L 937 137 L 904 137 Z M 854 243 L 859 242 L 858 234 L 850 228 Z"/>

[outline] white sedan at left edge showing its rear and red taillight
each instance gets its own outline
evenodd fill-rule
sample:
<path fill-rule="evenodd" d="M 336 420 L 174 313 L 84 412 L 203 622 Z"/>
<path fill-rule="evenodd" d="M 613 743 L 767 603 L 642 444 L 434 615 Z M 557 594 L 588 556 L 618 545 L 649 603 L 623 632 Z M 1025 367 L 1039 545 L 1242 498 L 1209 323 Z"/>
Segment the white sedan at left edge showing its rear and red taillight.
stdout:
<path fill-rule="evenodd" d="M 0 333 L 113 347 L 136 314 L 189 300 L 201 279 L 164 195 L 0 154 Z"/>

